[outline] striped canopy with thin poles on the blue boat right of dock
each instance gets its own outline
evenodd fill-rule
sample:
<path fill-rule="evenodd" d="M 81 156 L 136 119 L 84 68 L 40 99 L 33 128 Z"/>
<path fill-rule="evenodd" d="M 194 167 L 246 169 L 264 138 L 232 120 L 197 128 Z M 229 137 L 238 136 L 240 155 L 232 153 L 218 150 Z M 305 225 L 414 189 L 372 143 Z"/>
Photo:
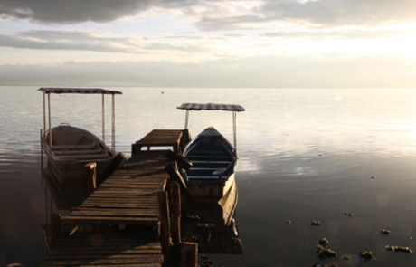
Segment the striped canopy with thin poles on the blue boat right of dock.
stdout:
<path fill-rule="evenodd" d="M 237 112 L 244 111 L 240 105 L 234 104 L 198 104 L 198 103 L 184 103 L 177 107 L 179 110 L 186 110 L 186 117 L 184 119 L 184 129 L 188 129 L 189 111 L 190 110 L 224 110 L 232 111 L 232 131 L 234 136 L 234 148 L 237 150 Z"/>

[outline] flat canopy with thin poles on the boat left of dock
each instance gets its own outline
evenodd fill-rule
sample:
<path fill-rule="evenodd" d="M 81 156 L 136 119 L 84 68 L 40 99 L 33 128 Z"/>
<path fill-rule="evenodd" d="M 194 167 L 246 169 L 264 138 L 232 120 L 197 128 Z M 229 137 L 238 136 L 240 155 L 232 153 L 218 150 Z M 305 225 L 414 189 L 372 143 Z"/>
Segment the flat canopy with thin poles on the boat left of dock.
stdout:
<path fill-rule="evenodd" d="M 105 107 L 104 95 L 111 95 L 111 150 L 115 152 L 116 148 L 116 116 L 115 116 L 115 100 L 114 95 L 122 94 L 121 91 L 111 91 L 101 88 L 56 88 L 56 87 L 41 87 L 38 91 L 43 91 L 43 132 L 46 134 L 46 110 L 48 110 L 49 122 L 49 146 L 52 147 L 52 126 L 51 126 L 51 94 L 61 93 L 80 93 L 80 94 L 100 94 L 102 95 L 102 140 L 106 141 L 106 126 L 105 126 Z M 48 107 L 46 107 L 46 95 L 48 96 Z"/>

